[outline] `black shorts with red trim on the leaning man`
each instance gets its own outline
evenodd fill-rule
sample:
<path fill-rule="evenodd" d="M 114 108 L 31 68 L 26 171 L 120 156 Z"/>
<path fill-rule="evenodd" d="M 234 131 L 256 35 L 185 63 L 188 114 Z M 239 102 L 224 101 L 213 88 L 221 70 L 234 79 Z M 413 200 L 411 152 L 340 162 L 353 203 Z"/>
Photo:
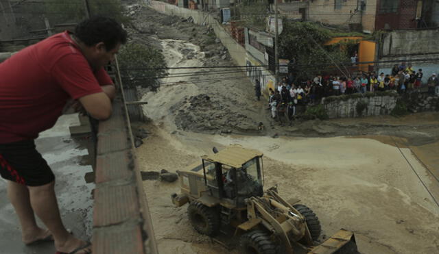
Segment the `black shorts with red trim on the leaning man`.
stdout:
<path fill-rule="evenodd" d="M 46 160 L 36 151 L 34 140 L 0 144 L 0 175 L 26 186 L 43 186 L 55 180 Z"/>

